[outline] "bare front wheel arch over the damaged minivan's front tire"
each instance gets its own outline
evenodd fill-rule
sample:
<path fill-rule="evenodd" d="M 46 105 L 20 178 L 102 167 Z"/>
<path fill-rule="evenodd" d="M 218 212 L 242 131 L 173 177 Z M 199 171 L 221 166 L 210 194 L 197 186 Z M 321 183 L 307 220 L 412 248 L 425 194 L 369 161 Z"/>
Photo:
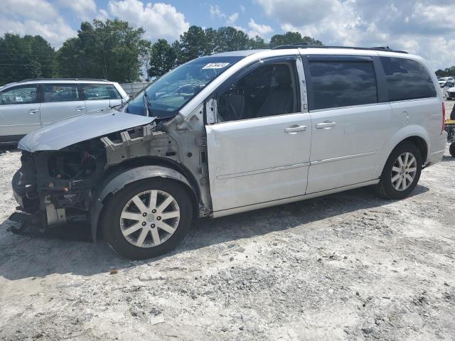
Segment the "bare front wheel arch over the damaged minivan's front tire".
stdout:
<path fill-rule="evenodd" d="M 193 203 L 194 217 L 198 217 L 198 195 L 196 189 L 191 185 L 190 181 L 182 173 L 173 168 L 156 165 L 138 166 L 134 168 L 117 168 L 107 175 L 106 180 L 95 191 L 92 208 L 90 210 L 90 225 L 92 228 L 92 239 L 97 240 L 97 231 L 102 217 L 105 202 L 109 200 L 119 190 L 125 186 L 139 180 L 150 178 L 166 178 L 176 181 L 183 185 Z"/>

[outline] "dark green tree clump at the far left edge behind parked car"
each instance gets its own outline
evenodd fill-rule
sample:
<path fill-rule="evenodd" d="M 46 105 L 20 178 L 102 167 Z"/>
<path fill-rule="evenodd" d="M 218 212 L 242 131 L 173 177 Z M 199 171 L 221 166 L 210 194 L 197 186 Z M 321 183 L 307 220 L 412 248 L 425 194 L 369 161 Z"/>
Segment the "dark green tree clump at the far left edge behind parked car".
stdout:
<path fill-rule="evenodd" d="M 0 38 L 0 85 L 54 75 L 55 50 L 43 37 L 6 33 Z"/>

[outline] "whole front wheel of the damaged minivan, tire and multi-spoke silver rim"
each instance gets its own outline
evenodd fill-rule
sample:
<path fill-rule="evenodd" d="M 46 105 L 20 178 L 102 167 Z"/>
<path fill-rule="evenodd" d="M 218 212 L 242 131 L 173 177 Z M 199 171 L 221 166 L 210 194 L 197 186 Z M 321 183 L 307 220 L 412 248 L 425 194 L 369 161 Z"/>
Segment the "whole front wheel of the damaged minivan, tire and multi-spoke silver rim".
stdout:
<path fill-rule="evenodd" d="M 183 185 L 151 178 L 127 185 L 109 200 L 102 231 L 122 256 L 146 259 L 175 248 L 192 220 L 191 199 Z"/>

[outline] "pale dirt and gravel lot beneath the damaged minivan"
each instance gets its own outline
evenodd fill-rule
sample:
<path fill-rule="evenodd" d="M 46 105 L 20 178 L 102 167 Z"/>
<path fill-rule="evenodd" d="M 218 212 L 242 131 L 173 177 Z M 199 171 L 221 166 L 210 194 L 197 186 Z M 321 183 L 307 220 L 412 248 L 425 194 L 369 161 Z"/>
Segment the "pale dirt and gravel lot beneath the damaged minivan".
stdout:
<path fill-rule="evenodd" d="M 448 153 L 406 200 L 366 188 L 205 220 L 136 262 L 86 227 L 8 232 L 19 153 L 0 165 L 0 340 L 455 340 Z"/>

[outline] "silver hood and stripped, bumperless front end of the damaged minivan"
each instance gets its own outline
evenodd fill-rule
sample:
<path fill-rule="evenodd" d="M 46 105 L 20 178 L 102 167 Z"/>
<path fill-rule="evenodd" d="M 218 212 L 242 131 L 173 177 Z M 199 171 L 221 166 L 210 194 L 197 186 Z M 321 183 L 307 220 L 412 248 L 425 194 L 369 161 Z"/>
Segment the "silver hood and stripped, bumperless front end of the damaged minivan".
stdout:
<path fill-rule="evenodd" d="M 24 137 L 21 168 L 12 180 L 19 206 L 10 217 L 40 227 L 90 221 L 93 193 L 108 168 L 102 139 L 119 141 L 123 129 L 143 131 L 154 118 L 100 111 L 58 121 Z M 137 128 L 139 126 L 139 128 Z"/>

